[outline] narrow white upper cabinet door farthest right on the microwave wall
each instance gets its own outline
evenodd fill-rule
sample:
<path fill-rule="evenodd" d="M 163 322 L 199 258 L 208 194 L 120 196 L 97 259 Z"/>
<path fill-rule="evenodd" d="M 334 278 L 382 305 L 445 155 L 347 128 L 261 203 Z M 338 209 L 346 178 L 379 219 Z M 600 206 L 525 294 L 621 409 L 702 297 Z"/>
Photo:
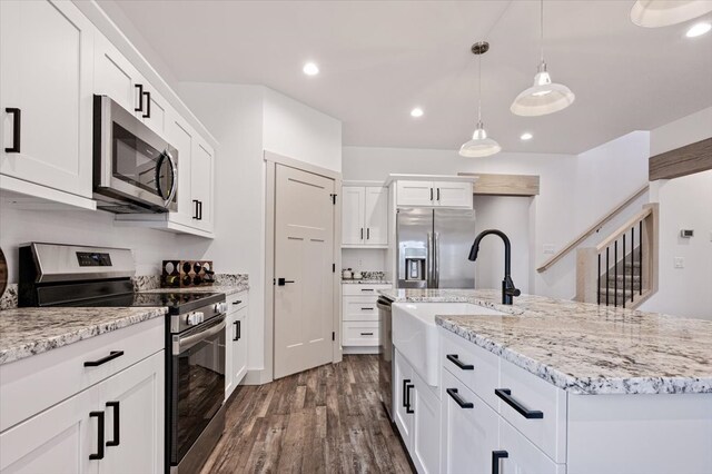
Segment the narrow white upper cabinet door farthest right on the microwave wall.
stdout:
<path fill-rule="evenodd" d="M 190 157 L 191 201 L 197 205 L 196 218 L 192 227 L 201 230 L 212 230 L 212 149 L 201 140 L 194 140 Z M 180 167 L 179 167 L 180 168 Z"/>

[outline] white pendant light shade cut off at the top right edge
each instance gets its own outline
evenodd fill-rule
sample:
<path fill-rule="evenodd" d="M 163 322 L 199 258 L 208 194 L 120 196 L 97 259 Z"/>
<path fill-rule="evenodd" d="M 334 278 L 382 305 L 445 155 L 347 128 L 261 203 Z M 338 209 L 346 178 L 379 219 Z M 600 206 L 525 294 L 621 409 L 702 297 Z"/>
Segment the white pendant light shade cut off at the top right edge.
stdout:
<path fill-rule="evenodd" d="M 645 28 L 669 27 L 710 11 L 709 0 L 637 0 L 631 9 L 631 21 Z"/>

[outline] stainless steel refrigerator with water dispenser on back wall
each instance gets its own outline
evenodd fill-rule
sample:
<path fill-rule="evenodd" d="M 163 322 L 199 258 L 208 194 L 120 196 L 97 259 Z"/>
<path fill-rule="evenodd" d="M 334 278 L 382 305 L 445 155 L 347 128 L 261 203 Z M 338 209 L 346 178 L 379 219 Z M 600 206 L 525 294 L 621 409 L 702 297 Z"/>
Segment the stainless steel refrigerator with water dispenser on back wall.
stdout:
<path fill-rule="evenodd" d="M 398 209 L 398 288 L 474 288 L 475 211 Z"/>

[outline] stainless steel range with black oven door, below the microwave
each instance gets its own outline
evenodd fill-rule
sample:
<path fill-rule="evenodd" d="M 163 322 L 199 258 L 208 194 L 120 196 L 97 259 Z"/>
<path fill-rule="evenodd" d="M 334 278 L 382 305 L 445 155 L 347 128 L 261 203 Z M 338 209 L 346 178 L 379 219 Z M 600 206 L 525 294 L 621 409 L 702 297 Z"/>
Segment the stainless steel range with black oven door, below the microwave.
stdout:
<path fill-rule="evenodd" d="M 125 248 L 33 243 L 20 247 L 20 306 L 168 307 L 166 466 L 195 473 L 222 435 L 225 313 L 221 293 L 135 293 Z"/>

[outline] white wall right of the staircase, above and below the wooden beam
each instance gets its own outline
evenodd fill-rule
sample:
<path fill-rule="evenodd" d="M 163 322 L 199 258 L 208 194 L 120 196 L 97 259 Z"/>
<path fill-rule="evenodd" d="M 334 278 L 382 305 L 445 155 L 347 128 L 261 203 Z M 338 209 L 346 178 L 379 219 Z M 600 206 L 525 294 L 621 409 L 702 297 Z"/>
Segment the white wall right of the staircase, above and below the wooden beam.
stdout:
<path fill-rule="evenodd" d="M 712 108 L 651 131 L 651 156 L 712 137 Z M 641 309 L 712 319 L 712 170 L 651 182 L 660 204 L 659 292 Z M 683 239 L 680 229 L 694 229 Z M 675 268 L 674 259 L 684 259 Z"/>

